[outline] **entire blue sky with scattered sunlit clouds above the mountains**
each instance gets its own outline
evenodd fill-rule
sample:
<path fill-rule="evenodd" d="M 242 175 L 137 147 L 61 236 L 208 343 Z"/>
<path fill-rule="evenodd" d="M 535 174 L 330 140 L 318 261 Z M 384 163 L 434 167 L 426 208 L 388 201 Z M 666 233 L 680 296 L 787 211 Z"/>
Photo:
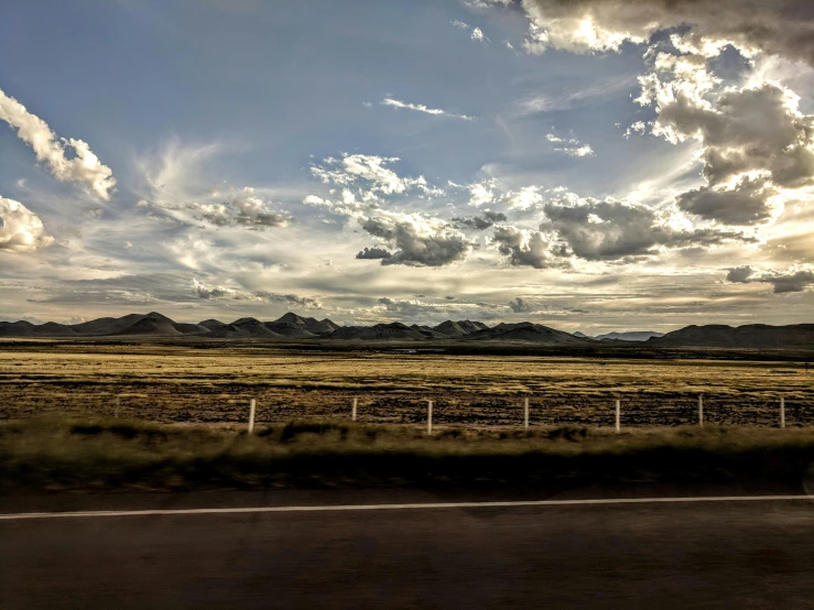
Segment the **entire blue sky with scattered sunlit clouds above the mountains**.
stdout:
<path fill-rule="evenodd" d="M 812 323 L 805 0 L 31 0 L 0 319 Z"/>

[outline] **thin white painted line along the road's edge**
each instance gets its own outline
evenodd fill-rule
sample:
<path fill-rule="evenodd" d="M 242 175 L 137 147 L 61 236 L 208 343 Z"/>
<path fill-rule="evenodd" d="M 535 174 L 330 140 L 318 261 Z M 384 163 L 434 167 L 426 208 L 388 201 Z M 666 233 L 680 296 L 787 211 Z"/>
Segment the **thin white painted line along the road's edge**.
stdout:
<path fill-rule="evenodd" d="M 43 513 L 0 513 L 0 521 L 25 519 L 76 519 L 95 516 L 154 516 L 246 513 L 308 513 L 343 511 L 404 511 L 437 509 L 501 509 L 515 506 L 585 506 L 611 504 L 681 504 L 714 502 L 772 502 L 814 500 L 812 495 L 708 495 L 699 498 L 609 498 L 596 500 L 518 500 L 510 502 L 437 502 L 415 504 L 327 504 L 314 506 L 243 506 L 224 509 L 148 509 L 133 511 L 77 511 Z"/>

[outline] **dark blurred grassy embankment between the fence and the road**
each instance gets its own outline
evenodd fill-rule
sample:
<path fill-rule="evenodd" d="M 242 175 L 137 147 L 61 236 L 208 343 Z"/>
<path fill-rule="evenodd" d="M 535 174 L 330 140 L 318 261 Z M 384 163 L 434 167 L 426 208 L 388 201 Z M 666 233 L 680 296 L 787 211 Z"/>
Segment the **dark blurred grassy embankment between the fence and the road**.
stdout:
<path fill-rule="evenodd" d="M 0 488 L 560 486 L 801 481 L 814 429 L 582 427 L 531 433 L 299 421 L 237 427 L 123 420 L 0 424 Z"/>

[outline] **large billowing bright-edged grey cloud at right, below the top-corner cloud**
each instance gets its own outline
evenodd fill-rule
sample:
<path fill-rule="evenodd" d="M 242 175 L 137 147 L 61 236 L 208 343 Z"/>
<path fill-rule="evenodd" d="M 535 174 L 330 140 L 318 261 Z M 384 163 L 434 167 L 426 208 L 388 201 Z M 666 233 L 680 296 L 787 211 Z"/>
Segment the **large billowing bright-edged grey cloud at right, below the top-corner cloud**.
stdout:
<path fill-rule="evenodd" d="M 721 88 L 705 58 L 666 53 L 641 84 L 638 101 L 658 115 L 651 132 L 701 145 L 707 185 L 677 198 L 685 211 L 755 225 L 782 211 L 791 190 L 814 185 L 814 117 L 789 89 L 764 81 Z"/>

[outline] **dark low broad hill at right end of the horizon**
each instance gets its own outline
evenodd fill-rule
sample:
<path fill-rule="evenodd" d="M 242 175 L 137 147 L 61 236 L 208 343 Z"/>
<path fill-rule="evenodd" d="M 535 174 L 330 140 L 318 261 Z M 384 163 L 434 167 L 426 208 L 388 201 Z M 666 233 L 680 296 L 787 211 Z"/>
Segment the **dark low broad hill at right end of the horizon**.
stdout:
<path fill-rule="evenodd" d="M 726 326 L 710 324 L 687 326 L 663 337 L 648 339 L 654 347 L 719 347 L 741 349 L 814 349 L 814 324 L 769 326 L 749 324 Z"/>

